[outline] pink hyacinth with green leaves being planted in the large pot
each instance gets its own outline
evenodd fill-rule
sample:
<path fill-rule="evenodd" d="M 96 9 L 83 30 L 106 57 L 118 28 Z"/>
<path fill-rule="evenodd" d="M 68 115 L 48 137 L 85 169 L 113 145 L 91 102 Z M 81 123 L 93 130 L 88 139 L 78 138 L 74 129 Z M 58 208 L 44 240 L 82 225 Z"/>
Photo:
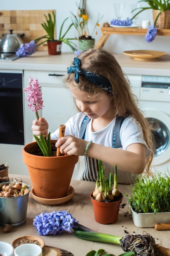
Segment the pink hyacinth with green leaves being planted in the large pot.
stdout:
<path fill-rule="evenodd" d="M 27 98 L 25 99 L 28 101 L 28 108 L 35 112 L 37 120 L 39 120 L 38 110 L 41 110 L 43 106 L 42 100 L 42 93 L 41 93 L 41 86 L 39 86 L 38 79 L 33 79 L 30 77 L 29 85 L 27 88 L 24 88 L 24 91 L 27 94 Z M 51 149 L 51 140 L 50 140 L 50 132 L 48 133 L 48 139 L 43 137 L 40 134 L 40 139 L 34 135 L 38 146 L 40 147 L 44 156 L 52 156 L 52 149 Z"/>

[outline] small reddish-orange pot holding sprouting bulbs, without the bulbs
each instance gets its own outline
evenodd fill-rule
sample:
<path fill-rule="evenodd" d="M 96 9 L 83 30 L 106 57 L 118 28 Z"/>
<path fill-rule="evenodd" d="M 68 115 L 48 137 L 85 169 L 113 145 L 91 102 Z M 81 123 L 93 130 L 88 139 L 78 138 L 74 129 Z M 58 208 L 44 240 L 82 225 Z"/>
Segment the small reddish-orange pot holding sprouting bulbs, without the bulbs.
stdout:
<path fill-rule="evenodd" d="M 94 210 L 94 218 L 96 222 L 100 224 L 113 224 L 118 220 L 120 204 L 122 203 L 122 198 L 116 202 L 98 202 L 92 198 L 92 194 L 90 195 L 93 210 Z"/>

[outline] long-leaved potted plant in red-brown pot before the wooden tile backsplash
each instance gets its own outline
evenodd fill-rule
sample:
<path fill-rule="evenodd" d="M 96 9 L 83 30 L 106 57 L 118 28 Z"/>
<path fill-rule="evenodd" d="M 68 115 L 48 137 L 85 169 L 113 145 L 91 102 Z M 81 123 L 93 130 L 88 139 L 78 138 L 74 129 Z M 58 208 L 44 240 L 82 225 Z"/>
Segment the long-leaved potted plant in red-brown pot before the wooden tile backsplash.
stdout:
<path fill-rule="evenodd" d="M 70 24 L 68 29 L 65 31 L 65 33 L 62 34 L 63 26 L 64 26 L 66 20 L 68 20 L 68 18 L 66 18 L 61 25 L 61 28 L 59 31 L 59 38 L 56 40 L 55 39 L 56 15 L 55 15 L 54 11 L 52 11 L 53 17 L 51 16 L 50 13 L 48 13 L 48 16 L 46 16 L 45 14 L 44 14 L 44 16 L 45 16 L 45 21 L 43 21 L 41 23 L 41 26 L 44 28 L 44 30 L 47 33 L 47 35 L 44 36 L 45 41 L 43 43 L 45 43 L 47 41 L 48 54 L 52 54 L 52 55 L 61 54 L 62 42 L 69 45 L 71 47 L 72 51 L 76 50 L 76 48 L 74 47 L 75 44 L 72 42 L 72 40 L 74 40 L 75 38 L 65 38 L 66 34 L 70 30 L 70 28 L 73 26 L 73 23 Z M 37 38 L 37 39 L 39 39 L 39 38 Z"/>

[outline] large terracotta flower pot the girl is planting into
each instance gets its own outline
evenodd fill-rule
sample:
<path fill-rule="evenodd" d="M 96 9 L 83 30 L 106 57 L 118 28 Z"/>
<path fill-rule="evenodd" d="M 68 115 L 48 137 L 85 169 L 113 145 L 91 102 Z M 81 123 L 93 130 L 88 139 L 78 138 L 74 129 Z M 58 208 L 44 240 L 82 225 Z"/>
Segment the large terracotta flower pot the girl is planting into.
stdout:
<path fill-rule="evenodd" d="M 55 144 L 56 141 L 52 140 Z M 67 195 L 74 166 L 78 162 L 76 155 L 44 157 L 31 154 L 39 151 L 37 142 L 24 146 L 23 161 L 27 165 L 35 195 L 41 198 L 63 198 Z"/>

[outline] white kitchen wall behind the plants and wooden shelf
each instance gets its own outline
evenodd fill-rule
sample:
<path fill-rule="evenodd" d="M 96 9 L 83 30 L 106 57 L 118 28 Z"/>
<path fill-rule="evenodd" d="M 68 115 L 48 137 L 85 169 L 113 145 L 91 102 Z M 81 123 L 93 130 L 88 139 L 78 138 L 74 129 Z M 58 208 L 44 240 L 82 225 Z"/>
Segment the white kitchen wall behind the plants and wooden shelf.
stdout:
<path fill-rule="evenodd" d="M 76 14 L 77 5 L 80 0 L 8 0 L 1 1 L 1 10 L 38 10 L 38 9 L 55 9 L 57 13 L 57 33 L 59 33 L 59 28 L 61 23 L 67 17 L 71 17 L 70 12 Z M 87 0 L 87 11 L 89 13 L 89 29 L 93 29 L 93 26 L 97 20 L 98 13 L 104 15 L 100 21 L 100 25 L 104 22 L 110 22 L 113 18 L 116 18 L 115 11 L 113 8 L 114 3 L 129 3 L 137 4 L 137 0 Z M 141 3 L 142 6 L 146 6 Z M 153 24 L 152 11 L 147 10 L 141 13 L 139 20 L 150 20 Z M 70 20 L 71 21 L 71 20 Z M 100 27 L 98 27 L 98 35 L 95 36 L 96 43 L 101 37 Z M 74 27 L 68 33 L 69 37 L 77 36 Z M 77 43 L 77 42 L 76 42 Z M 127 36 L 127 35 L 111 35 L 105 44 L 105 49 L 110 50 L 115 53 L 122 53 L 123 51 L 136 50 L 136 49 L 148 49 L 163 51 L 170 54 L 170 37 L 169 36 L 157 36 L 152 43 L 147 43 L 144 36 Z M 63 52 L 70 52 L 71 49 L 67 45 L 63 44 Z"/>

